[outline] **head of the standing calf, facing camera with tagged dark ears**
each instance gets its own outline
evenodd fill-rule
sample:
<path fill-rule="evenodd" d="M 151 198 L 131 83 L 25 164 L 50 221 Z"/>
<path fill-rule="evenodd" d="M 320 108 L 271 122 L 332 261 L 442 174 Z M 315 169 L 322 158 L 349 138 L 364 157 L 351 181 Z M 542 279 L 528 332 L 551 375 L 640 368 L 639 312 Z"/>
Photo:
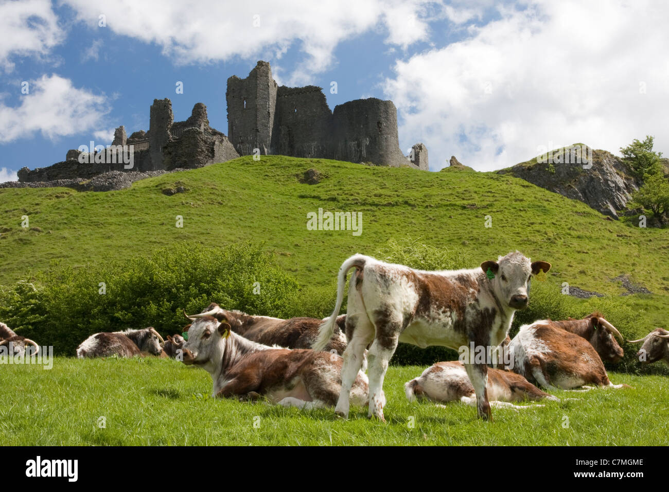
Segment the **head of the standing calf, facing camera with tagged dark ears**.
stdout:
<path fill-rule="evenodd" d="M 497 261 L 486 261 L 481 268 L 490 281 L 492 291 L 502 305 L 512 309 L 524 309 L 529 303 L 529 287 L 533 275 L 547 272 L 551 264 L 545 261 L 530 262 L 516 251 L 500 256 Z"/>

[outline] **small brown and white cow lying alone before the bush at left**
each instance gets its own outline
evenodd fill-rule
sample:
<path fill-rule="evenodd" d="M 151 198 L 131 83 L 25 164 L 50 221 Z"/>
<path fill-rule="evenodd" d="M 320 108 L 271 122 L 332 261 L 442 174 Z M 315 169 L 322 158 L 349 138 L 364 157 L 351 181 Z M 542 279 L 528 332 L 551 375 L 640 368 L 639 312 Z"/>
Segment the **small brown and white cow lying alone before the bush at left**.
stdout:
<path fill-rule="evenodd" d="M 165 343 L 163 337 L 153 327 L 113 333 L 94 333 L 77 347 L 77 357 L 133 357 L 142 352 L 161 355 Z"/>

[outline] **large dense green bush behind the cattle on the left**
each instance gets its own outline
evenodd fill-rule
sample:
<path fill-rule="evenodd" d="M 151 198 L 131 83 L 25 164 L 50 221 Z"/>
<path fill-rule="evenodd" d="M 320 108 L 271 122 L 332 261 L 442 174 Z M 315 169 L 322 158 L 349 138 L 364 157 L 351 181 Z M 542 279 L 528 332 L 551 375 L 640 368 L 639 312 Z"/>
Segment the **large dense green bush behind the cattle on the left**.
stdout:
<path fill-rule="evenodd" d="M 300 311 L 296 280 L 261 246 L 181 243 L 99 268 L 54 266 L 31 280 L 0 292 L 0 319 L 40 345 L 53 345 L 57 355 L 74 355 L 100 331 L 153 326 L 163 337 L 180 333 L 181 310 L 199 313 L 211 302 L 276 317 Z"/>

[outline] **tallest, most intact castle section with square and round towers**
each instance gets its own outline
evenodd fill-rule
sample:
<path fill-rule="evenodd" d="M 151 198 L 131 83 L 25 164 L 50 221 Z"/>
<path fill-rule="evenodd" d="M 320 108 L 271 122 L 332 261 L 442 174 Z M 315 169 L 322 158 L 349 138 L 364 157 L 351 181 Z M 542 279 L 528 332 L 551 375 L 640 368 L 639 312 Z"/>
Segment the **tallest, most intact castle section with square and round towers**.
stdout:
<path fill-rule="evenodd" d="M 389 100 L 358 99 L 330 111 L 322 88 L 278 87 L 267 62 L 247 78 L 227 80 L 228 139 L 240 155 L 320 157 L 427 170 L 399 149 L 397 109 Z M 415 154 L 415 153 L 414 153 Z"/>

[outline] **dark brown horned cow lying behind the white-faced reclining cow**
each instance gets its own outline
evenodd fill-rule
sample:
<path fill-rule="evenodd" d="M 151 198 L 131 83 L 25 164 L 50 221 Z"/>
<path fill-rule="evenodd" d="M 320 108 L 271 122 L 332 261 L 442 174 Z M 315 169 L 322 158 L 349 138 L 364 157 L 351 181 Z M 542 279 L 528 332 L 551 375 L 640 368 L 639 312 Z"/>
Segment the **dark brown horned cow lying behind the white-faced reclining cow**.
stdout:
<path fill-rule="evenodd" d="M 223 313 L 225 322 L 238 335 L 263 345 L 278 345 L 288 349 L 310 349 L 318 337 L 318 327 L 323 322 L 322 319 L 316 318 L 280 319 L 248 315 L 242 311 L 227 311 L 216 303 L 211 303 L 202 313 L 194 316 L 213 316 L 216 313 Z M 346 315 L 337 318 L 336 333 L 333 333 L 328 339 L 323 350 L 328 352 L 335 350 L 339 355 L 344 353 L 346 349 L 345 323 Z"/>

